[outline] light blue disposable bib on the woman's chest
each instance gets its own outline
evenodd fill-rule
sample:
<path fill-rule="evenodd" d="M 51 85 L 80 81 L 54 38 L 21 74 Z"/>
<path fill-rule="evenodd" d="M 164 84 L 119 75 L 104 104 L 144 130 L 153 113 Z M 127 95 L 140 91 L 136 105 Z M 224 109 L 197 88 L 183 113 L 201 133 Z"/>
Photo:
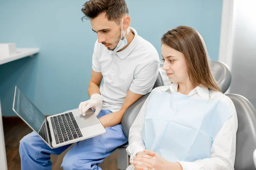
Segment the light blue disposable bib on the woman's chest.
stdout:
<path fill-rule="evenodd" d="M 192 162 L 210 157 L 213 138 L 231 115 L 220 99 L 152 91 L 141 135 L 147 150 L 171 162 Z"/>

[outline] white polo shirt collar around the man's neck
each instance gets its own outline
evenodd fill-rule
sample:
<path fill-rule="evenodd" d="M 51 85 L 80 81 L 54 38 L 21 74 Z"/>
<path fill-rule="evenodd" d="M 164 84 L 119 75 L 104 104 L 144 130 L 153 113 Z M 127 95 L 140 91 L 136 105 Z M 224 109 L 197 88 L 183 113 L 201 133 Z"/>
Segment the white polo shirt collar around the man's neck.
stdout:
<path fill-rule="evenodd" d="M 134 39 L 131 41 L 131 43 L 122 51 L 116 52 L 116 54 L 118 55 L 118 57 L 120 59 L 125 59 L 130 53 L 131 51 L 134 50 L 136 43 L 137 43 L 137 38 L 138 38 L 138 34 L 137 31 L 134 28 L 129 27 L 131 32 L 134 33 Z M 113 54 L 113 51 L 109 51 L 110 54 Z"/>

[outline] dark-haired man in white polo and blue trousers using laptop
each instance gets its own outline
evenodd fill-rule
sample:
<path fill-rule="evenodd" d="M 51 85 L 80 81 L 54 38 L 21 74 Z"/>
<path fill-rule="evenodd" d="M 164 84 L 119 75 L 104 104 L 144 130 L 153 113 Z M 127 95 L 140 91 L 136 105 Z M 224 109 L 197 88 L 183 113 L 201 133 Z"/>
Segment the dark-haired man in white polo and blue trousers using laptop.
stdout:
<path fill-rule="evenodd" d="M 79 113 L 85 115 L 93 108 L 107 132 L 77 142 L 64 156 L 61 167 L 101 170 L 99 164 L 128 141 L 120 124 L 122 116 L 130 105 L 152 90 L 160 64 L 154 46 L 130 27 L 125 0 L 90 0 L 82 12 L 90 19 L 98 39 L 88 87 L 90 99 L 80 103 Z M 29 133 L 20 141 L 21 169 L 51 170 L 50 154 L 59 155 L 69 146 L 50 149 L 37 134 Z"/>

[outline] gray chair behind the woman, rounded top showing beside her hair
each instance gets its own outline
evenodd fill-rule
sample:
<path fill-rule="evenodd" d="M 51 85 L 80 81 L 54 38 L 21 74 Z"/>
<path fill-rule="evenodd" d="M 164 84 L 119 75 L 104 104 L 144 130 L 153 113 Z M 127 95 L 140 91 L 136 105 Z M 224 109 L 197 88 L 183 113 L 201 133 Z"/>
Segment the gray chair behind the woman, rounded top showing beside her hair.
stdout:
<path fill-rule="evenodd" d="M 211 61 L 211 69 L 216 82 L 218 82 L 218 85 L 222 89 L 222 93 L 225 93 L 231 84 L 231 73 L 229 68 L 223 62 Z M 160 67 L 157 81 L 155 82 L 153 88 L 164 85 L 163 76 L 166 75 L 162 74 L 162 72 L 163 69 Z M 127 138 L 129 136 L 130 127 L 149 94 L 150 93 L 145 94 L 134 102 L 134 104 L 132 104 L 122 116 L 122 130 Z M 119 170 L 125 170 L 128 167 L 128 153 L 126 152 L 126 147 L 128 147 L 128 142 L 117 148 L 117 166 Z"/>

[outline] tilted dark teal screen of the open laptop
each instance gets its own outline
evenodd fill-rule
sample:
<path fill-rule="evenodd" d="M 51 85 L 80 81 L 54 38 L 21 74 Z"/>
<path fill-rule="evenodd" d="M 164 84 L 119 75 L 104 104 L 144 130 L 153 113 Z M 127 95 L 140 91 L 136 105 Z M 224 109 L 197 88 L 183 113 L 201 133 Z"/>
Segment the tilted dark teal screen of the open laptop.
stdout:
<path fill-rule="evenodd" d="M 43 123 L 46 117 L 17 86 L 15 88 L 13 109 L 37 133 L 39 133 L 41 127 L 44 128 Z"/>

